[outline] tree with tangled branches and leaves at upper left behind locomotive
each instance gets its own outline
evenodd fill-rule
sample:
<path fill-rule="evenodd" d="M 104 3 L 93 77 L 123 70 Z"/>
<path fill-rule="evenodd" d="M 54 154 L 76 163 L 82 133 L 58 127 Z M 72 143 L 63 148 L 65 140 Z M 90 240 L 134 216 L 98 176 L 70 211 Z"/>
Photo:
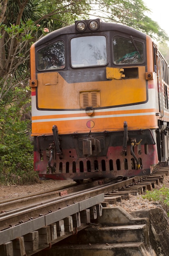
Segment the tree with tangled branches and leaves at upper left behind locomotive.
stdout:
<path fill-rule="evenodd" d="M 15 88 L 22 90 L 23 86 L 27 86 L 29 79 L 29 49 L 33 41 L 45 34 L 43 28 L 49 27 L 52 31 L 67 25 L 65 20 L 68 21 L 70 19 L 73 22 L 72 12 L 78 16 L 78 10 L 85 12 L 88 9 L 88 6 L 82 8 L 82 3 L 75 5 L 75 2 L 53 1 L 52 3 L 46 0 L 1 1 L 0 101 L 5 101 L 7 95 L 13 92 Z M 56 9 L 51 11 L 51 6 Z M 43 16 L 41 16 L 41 13 Z M 32 19 L 34 19 L 34 22 Z M 61 20 L 64 20 L 64 22 L 61 22 Z M 37 27 L 36 25 L 39 24 L 40 27 Z M 55 24 L 54 27 L 53 24 Z"/>

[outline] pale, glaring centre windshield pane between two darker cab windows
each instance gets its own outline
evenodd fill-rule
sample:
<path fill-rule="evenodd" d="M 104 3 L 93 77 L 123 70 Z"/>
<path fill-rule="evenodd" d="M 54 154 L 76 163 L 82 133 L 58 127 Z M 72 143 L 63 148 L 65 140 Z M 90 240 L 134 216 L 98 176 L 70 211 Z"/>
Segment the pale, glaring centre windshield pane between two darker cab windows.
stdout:
<path fill-rule="evenodd" d="M 82 36 L 71 39 L 72 67 L 89 67 L 107 64 L 105 36 Z"/>

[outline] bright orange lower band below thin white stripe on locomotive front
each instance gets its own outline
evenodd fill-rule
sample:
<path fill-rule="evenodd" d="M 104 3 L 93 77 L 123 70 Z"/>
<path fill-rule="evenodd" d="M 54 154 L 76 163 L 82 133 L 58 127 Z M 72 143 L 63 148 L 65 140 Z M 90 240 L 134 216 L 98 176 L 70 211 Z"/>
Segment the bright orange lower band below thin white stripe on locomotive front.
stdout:
<path fill-rule="evenodd" d="M 85 117 L 84 117 L 85 118 Z M 127 121 L 128 129 L 146 129 L 156 128 L 156 117 L 154 115 L 146 116 L 133 116 L 133 117 L 102 117 L 88 118 L 88 119 L 76 119 L 65 121 L 45 121 L 41 119 L 40 122 L 32 124 L 33 135 L 51 134 L 53 124 L 57 124 L 59 133 L 67 134 L 73 132 L 89 132 L 87 127 L 87 121 L 92 120 L 94 127 L 91 128 L 91 132 L 102 132 L 122 130 L 124 121 Z M 153 126 L 154 124 L 154 126 Z"/>

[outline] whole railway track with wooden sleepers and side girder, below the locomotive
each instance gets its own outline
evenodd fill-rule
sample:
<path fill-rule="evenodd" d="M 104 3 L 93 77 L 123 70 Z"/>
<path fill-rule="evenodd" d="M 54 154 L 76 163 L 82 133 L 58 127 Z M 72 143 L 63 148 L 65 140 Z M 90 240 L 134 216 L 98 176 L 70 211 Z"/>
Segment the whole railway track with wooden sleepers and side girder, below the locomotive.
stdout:
<path fill-rule="evenodd" d="M 2 247 L 9 250 L 11 245 L 13 251 L 17 250 L 17 241 L 19 250 L 24 244 L 27 255 L 33 255 L 86 227 L 87 222 L 102 214 L 103 201 L 112 200 L 112 196 L 117 197 L 120 193 L 125 195 L 126 191 L 142 193 L 152 189 L 168 174 L 168 167 L 159 166 L 147 177 L 133 177 L 125 181 L 97 180 L 0 201 L 0 252 Z M 25 245 L 28 236 L 31 236 L 30 247 Z M 33 236 L 38 237 L 38 245 L 33 242 Z M 8 254 L 4 252 L 4 255 Z"/>

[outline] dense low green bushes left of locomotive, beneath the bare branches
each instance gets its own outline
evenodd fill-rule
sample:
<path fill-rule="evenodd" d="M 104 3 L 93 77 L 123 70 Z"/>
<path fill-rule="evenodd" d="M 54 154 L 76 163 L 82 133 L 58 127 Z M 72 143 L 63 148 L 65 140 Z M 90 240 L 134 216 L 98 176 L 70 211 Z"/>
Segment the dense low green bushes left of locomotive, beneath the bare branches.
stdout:
<path fill-rule="evenodd" d="M 33 170 L 33 143 L 30 121 L 25 119 L 29 110 L 20 110 L 18 102 L 8 108 L 0 104 L 0 183 L 25 184 L 37 182 Z"/>

